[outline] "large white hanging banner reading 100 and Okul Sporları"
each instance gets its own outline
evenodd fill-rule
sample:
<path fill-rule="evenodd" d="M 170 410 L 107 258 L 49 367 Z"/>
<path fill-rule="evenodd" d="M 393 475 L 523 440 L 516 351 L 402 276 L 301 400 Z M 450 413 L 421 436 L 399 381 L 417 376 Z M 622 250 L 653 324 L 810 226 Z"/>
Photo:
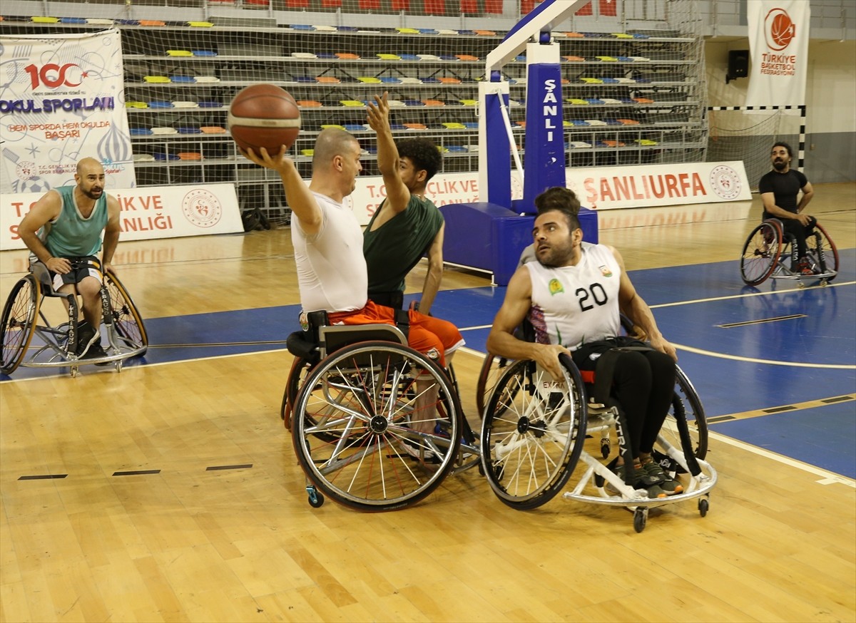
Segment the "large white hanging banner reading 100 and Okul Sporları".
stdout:
<path fill-rule="evenodd" d="M 117 30 L 4 35 L 0 193 L 74 184 L 77 162 L 104 164 L 109 191 L 136 186 Z"/>

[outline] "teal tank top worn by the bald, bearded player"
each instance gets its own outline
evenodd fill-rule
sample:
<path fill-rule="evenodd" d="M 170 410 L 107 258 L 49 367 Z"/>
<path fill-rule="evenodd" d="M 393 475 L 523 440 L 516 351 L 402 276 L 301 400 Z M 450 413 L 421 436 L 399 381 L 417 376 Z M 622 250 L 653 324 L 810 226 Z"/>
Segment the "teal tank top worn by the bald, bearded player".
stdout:
<path fill-rule="evenodd" d="M 56 258 L 85 258 L 101 248 L 101 233 L 107 227 L 107 193 L 95 202 L 89 218 L 80 216 L 74 203 L 74 186 L 56 187 L 62 197 L 62 211 L 50 223 L 45 246 Z"/>

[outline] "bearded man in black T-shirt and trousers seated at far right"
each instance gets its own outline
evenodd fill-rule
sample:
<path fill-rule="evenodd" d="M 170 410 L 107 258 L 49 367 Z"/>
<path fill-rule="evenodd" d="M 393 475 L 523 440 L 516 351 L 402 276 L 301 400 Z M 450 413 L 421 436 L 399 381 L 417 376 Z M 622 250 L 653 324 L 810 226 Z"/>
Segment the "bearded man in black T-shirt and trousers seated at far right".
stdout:
<path fill-rule="evenodd" d="M 778 218 L 786 236 L 794 239 L 791 245 L 791 271 L 802 275 L 813 275 L 815 270 L 805 257 L 805 237 L 811 234 L 817 219 L 804 214 L 805 206 L 814 196 L 811 183 L 800 171 L 791 169 L 794 150 L 788 143 L 778 142 L 770 150 L 773 169 L 765 173 L 758 182 L 758 192 L 764 202 L 764 220 Z M 797 197 L 802 191 L 799 203 Z"/>

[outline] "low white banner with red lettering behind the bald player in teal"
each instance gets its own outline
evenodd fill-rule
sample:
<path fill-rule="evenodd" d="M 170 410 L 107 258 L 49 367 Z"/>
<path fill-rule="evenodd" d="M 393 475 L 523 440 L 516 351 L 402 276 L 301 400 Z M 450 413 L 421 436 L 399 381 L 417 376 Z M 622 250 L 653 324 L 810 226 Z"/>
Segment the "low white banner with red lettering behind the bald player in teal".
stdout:
<path fill-rule="evenodd" d="M 24 248 L 18 223 L 43 194 L 0 194 L 0 251 Z M 110 194 L 122 208 L 120 242 L 244 230 L 233 184 L 137 187 Z"/>

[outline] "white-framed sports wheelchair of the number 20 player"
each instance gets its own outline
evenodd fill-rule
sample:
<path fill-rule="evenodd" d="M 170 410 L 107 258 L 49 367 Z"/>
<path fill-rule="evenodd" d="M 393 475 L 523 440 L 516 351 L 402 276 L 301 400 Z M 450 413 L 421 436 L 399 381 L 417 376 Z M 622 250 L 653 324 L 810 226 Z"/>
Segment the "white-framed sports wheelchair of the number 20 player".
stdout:
<path fill-rule="evenodd" d="M 530 510 L 570 486 L 564 494 L 569 499 L 631 508 L 637 532 L 645 529 L 648 510 L 664 504 L 698 498 L 698 512 L 704 517 L 716 470 L 704 460 L 704 409 L 684 372 L 677 369 L 672 406 L 653 455 L 685 489 L 650 499 L 645 490 L 634 490 L 594 457 L 599 454 L 605 460 L 612 453 L 610 431 L 622 428 L 620 409 L 595 402 L 590 373 L 584 380 L 567 355 L 560 361 L 563 378 L 556 382 L 533 361 L 509 362 L 490 354 L 485 359 L 477 389 L 487 392 L 486 401 L 482 398 L 486 405 L 480 446 L 482 470 L 496 496 L 509 507 Z M 496 383 L 485 387 L 482 379 L 490 383 L 494 372 Z M 583 469 L 578 472 L 580 463 Z"/>

